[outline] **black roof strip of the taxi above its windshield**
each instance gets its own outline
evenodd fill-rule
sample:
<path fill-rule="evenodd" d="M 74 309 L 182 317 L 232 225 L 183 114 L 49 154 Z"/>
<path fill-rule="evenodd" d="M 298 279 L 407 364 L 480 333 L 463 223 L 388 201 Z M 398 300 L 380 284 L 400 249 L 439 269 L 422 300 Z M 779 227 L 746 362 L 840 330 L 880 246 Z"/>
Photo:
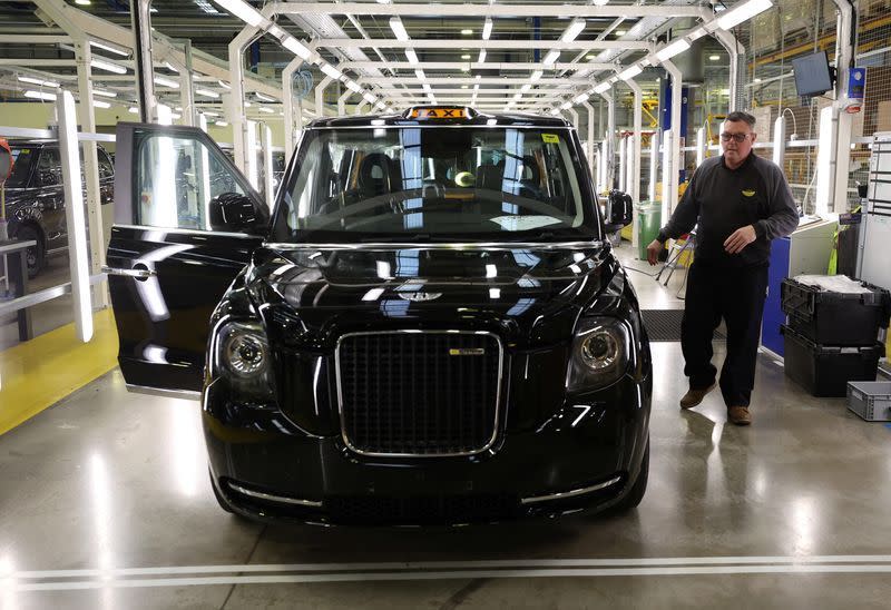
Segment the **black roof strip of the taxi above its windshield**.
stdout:
<path fill-rule="evenodd" d="M 466 117 L 461 118 L 412 118 L 412 115 L 424 115 L 423 110 L 435 109 L 466 110 Z M 421 112 L 417 112 L 420 110 Z M 544 117 L 540 115 L 527 115 L 523 112 L 486 114 L 479 112 L 471 107 L 461 106 L 412 106 L 408 110 L 399 114 L 383 115 L 360 115 L 352 117 L 326 117 L 315 119 L 307 124 L 304 129 L 327 129 L 327 128 L 358 128 L 358 127 L 422 127 L 422 126 L 467 126 L 467 127 L 544 127 L 548 129 L 574 129 L 565 119 L 559 117 Z"/>

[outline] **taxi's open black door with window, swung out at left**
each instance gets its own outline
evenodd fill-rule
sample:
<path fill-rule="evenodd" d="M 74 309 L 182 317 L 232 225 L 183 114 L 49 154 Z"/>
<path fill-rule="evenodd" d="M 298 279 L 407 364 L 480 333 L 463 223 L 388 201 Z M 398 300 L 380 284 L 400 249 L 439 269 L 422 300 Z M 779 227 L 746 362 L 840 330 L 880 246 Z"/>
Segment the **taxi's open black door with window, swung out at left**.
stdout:
<path fill-rule="evenodd" d="M 105 270 L 128 388 L 197 396 L 210 314 L 268 218 L 200 129 L 118 124 Z"/>

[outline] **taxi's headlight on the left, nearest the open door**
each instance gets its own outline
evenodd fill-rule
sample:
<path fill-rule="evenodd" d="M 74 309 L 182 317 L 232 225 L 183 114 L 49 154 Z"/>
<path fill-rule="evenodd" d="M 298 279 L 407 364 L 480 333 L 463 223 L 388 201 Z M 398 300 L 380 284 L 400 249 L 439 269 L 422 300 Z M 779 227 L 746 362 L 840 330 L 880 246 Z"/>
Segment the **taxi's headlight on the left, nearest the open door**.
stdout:
<path fill-rule="evenodd" d="M 233 393 L 249 399 L 274 397 L 270 343 L 255 322 L 229 322 L 214 337 L 212 375 L 228 380 Z"/>

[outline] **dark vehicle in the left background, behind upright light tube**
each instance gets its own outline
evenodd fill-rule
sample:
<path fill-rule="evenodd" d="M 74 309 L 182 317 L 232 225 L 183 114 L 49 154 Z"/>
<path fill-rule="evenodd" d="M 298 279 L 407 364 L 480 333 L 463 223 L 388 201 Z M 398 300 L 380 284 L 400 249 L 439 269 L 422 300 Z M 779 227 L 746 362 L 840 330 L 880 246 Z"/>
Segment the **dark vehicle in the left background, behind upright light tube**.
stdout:
<path fill-rule="evenodd" d="M 46 265 L 48 255 L 68 247 L 59 144 L 19 140 L 9 146 L 16 163 L 6 184 L 9 234 L 37 242 L 28 248 L 28 275 L 35 277 Z M 106 205 L 114 200 L 115 165 L 98 145 L 97 155 L 100 200 Z"/>

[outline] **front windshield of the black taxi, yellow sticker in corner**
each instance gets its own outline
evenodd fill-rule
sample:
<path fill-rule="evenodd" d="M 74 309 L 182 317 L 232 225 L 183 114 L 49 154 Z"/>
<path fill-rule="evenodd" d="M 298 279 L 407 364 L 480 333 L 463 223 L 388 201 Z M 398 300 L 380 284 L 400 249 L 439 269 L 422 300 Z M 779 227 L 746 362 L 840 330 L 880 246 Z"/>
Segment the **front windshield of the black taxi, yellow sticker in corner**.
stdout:
<path fill-rule="evenodd" d="M 597 239 L 584 163 L 567 129 L 310 129 L 271 238 Z"/>

